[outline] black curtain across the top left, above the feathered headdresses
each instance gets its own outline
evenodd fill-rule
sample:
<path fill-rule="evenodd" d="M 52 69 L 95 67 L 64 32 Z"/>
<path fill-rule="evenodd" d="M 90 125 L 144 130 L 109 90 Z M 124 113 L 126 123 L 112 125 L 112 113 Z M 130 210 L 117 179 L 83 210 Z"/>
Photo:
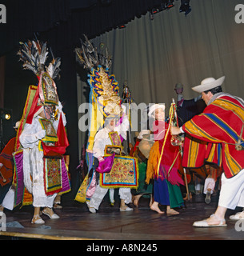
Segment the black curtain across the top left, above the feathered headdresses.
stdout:
<path fill-rule="evenodd" d="M 0 56 L 18 46 L 19 41 L 34 38 L 54 42 L 52 48 L 75 47 L 78 38 L 89 38 L 126 24 L 159 6 L 162 0 L 8 0 L 7 22 L 1 25 Z"/>

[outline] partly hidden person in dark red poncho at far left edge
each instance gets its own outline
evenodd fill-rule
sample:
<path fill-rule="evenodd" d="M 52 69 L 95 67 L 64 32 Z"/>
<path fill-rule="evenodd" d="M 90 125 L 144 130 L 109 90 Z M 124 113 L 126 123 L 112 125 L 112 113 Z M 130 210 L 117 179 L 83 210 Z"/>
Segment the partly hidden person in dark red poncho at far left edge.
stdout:
<path fill-rule="evenodd" d="M 16 122 L 14 130 L 17 131 L 20 122 Z M 13 181 L 14 171 L 14 146 L 16 137 L 11 138 L 0 154 L 0 211 L 4 210 L 4 199 Z M 2 205 L 1 205 L 2 204 Z"/>

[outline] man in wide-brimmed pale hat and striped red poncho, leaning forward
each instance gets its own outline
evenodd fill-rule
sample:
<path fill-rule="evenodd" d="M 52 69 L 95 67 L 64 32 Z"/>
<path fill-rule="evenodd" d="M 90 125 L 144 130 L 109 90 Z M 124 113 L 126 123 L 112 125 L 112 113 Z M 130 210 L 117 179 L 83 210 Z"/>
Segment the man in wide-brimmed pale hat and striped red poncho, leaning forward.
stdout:
<path fill-rule="evenodd" d="M 214 163 L 223 170 L 217 210 L 210 218 L 194 222 L 194 226 L 226 226 L 226 210 L 244 206 L 244 101 L 222 92 L 224 80 L 225 77 L 206 78 L 200 86 L 192 88 L 202 94 L 206 109 L 182 127 L 171 128 L 173 135 L 186 133 L 183 166 Z M 187 138 L 187 134 L 194 137 L 194 141 Z M 190 148 L 198 149 L 194 158 Z M 244 218 L 244 212 L 232 218 Z"/>

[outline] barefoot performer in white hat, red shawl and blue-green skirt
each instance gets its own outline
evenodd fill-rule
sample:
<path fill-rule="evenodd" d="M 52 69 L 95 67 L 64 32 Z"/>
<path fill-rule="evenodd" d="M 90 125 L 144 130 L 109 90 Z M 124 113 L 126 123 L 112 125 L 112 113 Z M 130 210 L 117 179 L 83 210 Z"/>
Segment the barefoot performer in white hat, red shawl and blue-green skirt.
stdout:
<path fill-rule="evenodd" d="M 158 204 L 166 205 L 167 214 L 179 214 L 173 208 L 183 204 L 182 193 L 179 184 L 184 184 L 178 174 L 178 167 L 181 161 L 178 146 L 171 145 L 171 135 L 167 133 L 169 124 L 165 122 L 165 106 L 154 104 L 150 107 L 149 116 L 154 118 L 154 146 L 150 150 L 150 157 L 146 170 L 146 183 L 154 178 L 154 202 L 150 206 L 151 210 L 159 214 L 164 212 L 159 209 Z M 160 154 L 163 149 L 162 160 L 159 163 L 159 173 L 157 173 Z"/>

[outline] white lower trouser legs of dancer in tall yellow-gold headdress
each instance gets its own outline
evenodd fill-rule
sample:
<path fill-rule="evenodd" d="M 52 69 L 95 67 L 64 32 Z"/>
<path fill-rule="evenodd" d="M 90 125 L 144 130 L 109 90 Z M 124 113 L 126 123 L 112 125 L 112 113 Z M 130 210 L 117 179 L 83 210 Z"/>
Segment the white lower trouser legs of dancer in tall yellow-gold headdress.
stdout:
<path fill-rule="evenodd" d="M 96 186 L 96 190 L 93 194 L 93 196 L 90 198 L 90 202 L 88 202 L 88 205 L 92 208 L 95 208 L 98 210 L 102 199 L 105 197 L 108 189 L 102 188 L 99 184 Z M 132 196 L 130 193 L 130 188 L 120 188 L 118 190 L 119 197 L 125 201 L 125 203 L 131 202 Z"/>

